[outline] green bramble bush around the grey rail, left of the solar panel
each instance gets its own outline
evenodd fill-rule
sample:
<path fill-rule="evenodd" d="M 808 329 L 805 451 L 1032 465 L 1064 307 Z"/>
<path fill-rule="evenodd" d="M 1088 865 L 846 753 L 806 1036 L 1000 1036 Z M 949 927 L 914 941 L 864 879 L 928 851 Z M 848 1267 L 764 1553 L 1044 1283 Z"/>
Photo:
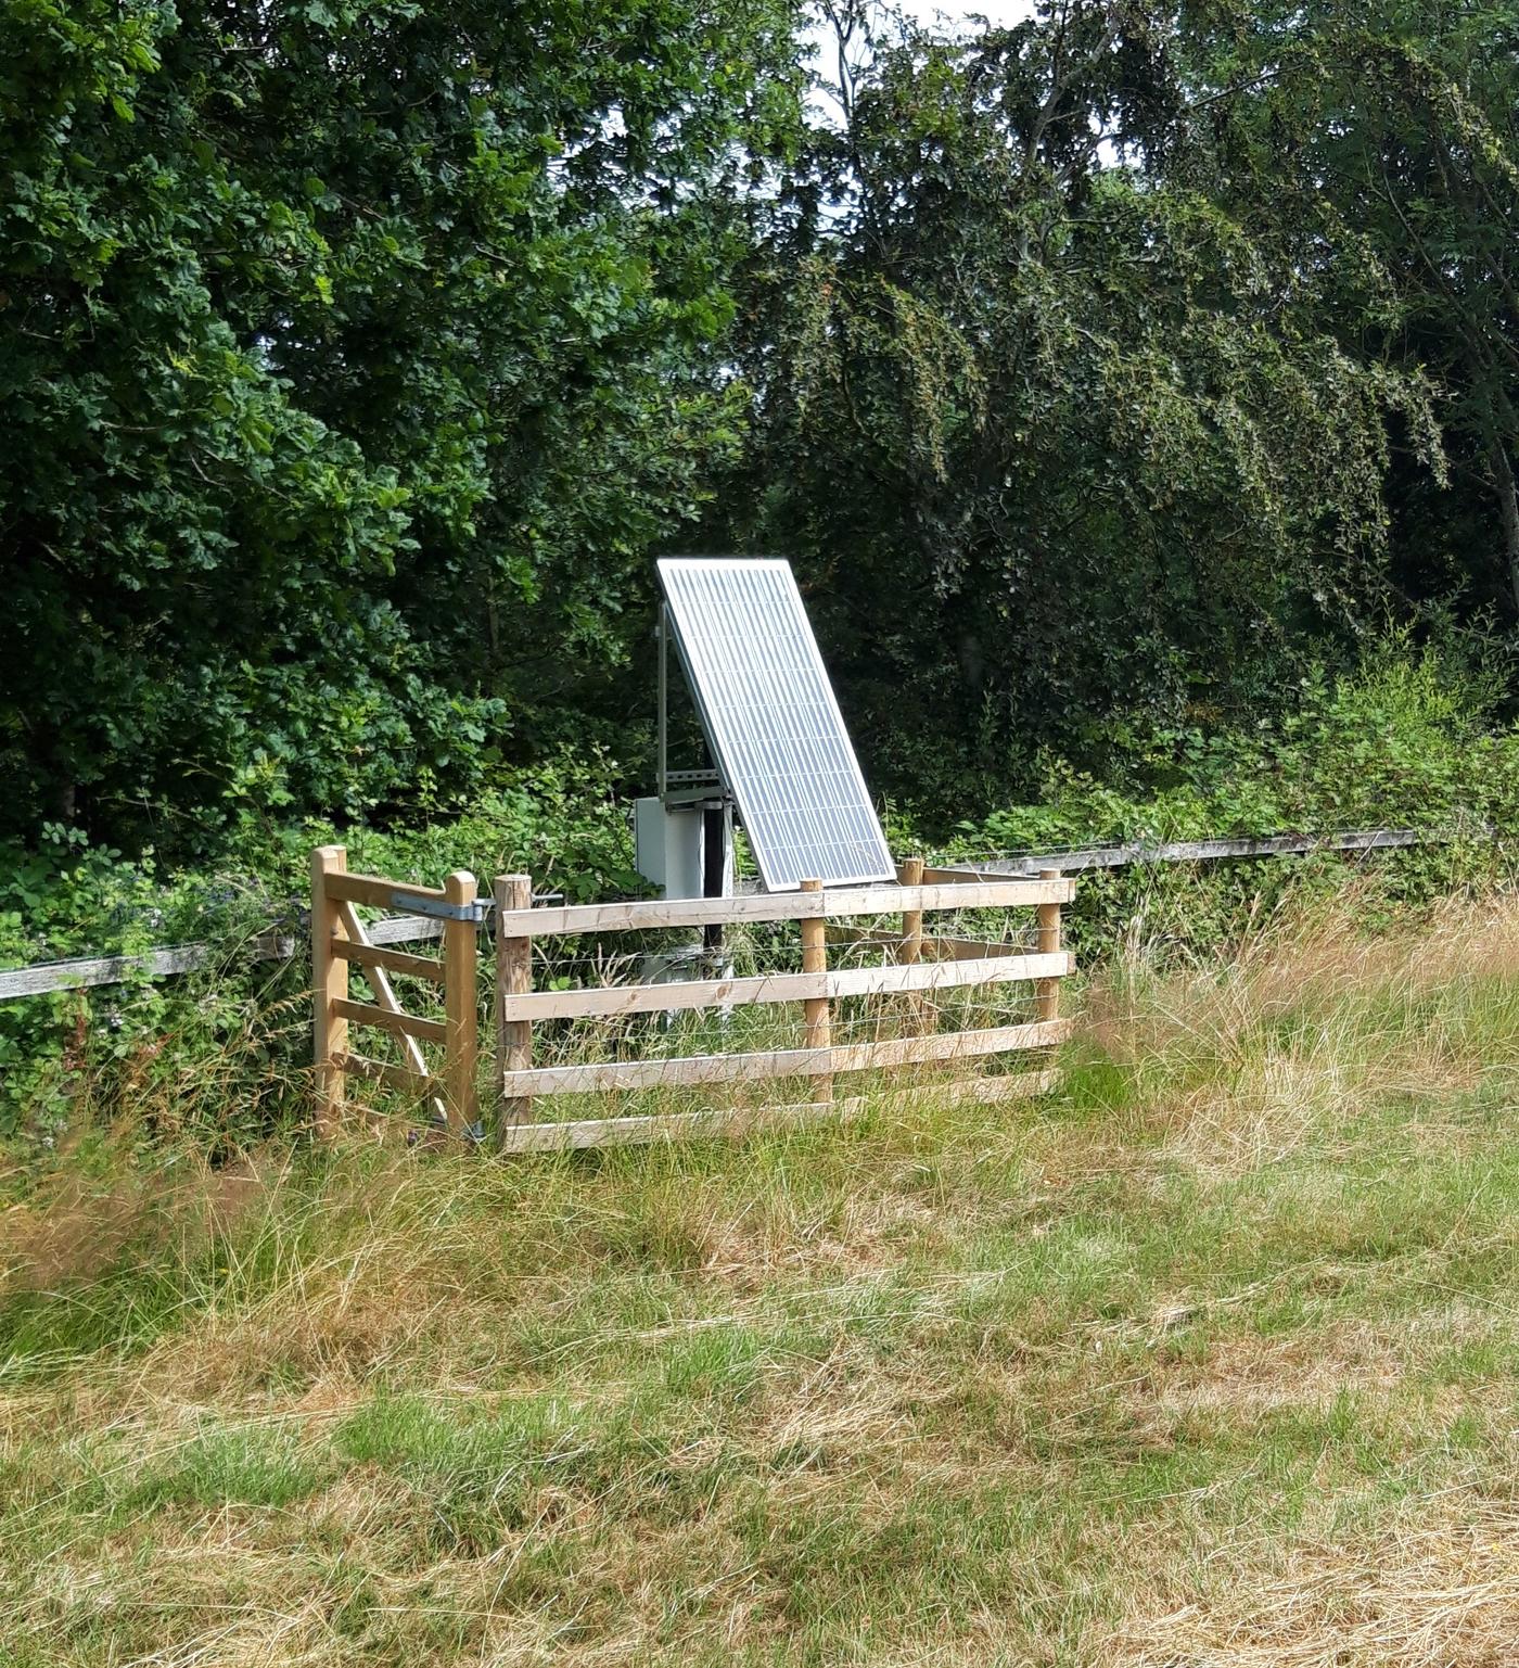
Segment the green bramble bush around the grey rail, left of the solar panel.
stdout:
<path fill-rule="evenodd" d="M 639 886 L 627 814 L 605 756 L 549 764 L 484 792 L 462 817 L 407 831 L 277 824 L 245 816 L 203 872 L 163 872 L 153 852 L 128 861 L 50 827 L 35 851 L 0 846 L 0 966 L 80 956 L 138 956 L 205 942 L 207 966 L 168 981 L 125 982 L 0 1002 L 0 1136 L 25 1129 L 53 1144 L 78 1096 L 113 1084 L 172 1104 L 215 1141 L 263 1133 L 283 1086 L 307 1063 L 307 964 L 255 959 L 258 934 L 305 934 L 313 846 L 347 844 L 348 866 L 437 884 L 450 869 L 525 869 L 570 899 Z M 203 1071 L 235 1059 L 240 1093 Z M 150 1094 L 153 1089 L 170 1094 Z"/>

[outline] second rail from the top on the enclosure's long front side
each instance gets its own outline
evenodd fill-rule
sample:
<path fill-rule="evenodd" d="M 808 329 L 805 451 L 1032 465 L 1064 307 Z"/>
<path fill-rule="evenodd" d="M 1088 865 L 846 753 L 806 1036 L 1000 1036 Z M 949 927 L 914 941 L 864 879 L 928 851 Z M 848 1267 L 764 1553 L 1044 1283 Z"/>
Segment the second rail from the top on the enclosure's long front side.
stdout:
<path fill-rule="evenodd" d="M 1074 961 L 1067 954 L 997 954 L 982 961 L 760 972 L 742 979 L 609 984 L 589 991 L 532 991 L 527 996 L 504 997 L 502 1011 L 507 1019 L 615 1019 L 689 1007 L 837 1001 L 844 996 L 889 996 L 897 991 L 949 991 L 967 984 L 1017 984 L 1024 979 L 1060 979 L 1072 969 Z"/>

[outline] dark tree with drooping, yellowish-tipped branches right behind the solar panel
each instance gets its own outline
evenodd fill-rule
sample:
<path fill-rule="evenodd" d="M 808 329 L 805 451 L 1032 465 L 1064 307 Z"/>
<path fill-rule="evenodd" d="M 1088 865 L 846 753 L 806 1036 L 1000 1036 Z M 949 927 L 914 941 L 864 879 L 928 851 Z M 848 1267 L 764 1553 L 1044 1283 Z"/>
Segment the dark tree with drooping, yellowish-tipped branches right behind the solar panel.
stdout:
<path fill-rule="evenodd" d="M 877 43 L 754 272 L 740 537 L 795 550 L 877 776 L 940 806 L 1296 682 L 1384 595 L 1387 420 L 1311 274 L 1172 167 L 1177 20 Z"/>

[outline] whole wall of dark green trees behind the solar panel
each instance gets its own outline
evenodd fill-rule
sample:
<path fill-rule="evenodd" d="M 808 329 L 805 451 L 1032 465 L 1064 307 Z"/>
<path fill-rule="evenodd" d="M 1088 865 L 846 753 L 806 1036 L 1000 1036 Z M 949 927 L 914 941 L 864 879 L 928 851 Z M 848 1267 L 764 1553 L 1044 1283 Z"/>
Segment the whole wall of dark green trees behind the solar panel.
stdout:
<path fill-rule="evenodd" d="M 3 0 L 0 834 L 647 781 L 670 547 L 949 821 L 1512 632 L 1512 3 L 824 18 Z"/>

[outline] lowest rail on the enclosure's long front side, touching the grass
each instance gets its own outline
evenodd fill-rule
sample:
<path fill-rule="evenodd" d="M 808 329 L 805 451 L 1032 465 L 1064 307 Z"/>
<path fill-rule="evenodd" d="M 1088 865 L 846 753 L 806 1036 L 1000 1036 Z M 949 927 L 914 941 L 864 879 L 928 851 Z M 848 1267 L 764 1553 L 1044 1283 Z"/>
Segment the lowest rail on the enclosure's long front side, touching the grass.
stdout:
<path fill-rule="evenodd" d="M 1005 1078 L 962 1078 L 955 1083 L 917 1086 L 880 1094 L 850 1094 L 842 1101 L 797 1106 L 724 1108 L 700 1113 L 655 1113 L 642 1118 L 585 1118 L 559 1124 L 529 1124 L 502 1133 L 502 1153 L 569 1153 L 599 1146 L 639 1146 L 652 1141 L 734 1141 L 762 1129 L 805 1126 L 824 1119 L 855 1118 L 867 1109 L 892 1108 L 912 1096 L 932 1096 L 939 1104 L 1030 1099 L 1059 1083 L 1057 1071 L 1029 1071 Z"/>

